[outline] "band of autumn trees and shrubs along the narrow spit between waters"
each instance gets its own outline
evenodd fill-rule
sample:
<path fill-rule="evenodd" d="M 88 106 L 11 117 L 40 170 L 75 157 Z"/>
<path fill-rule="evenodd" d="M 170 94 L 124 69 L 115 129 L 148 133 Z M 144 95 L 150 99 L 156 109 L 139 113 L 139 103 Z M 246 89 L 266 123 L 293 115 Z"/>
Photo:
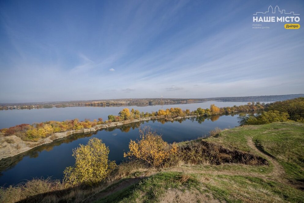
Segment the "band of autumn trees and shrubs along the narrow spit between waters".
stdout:
<path fill-rule="evenodd" d="M 109 115 L 108 120 L 103 122 L 102 118 L 98 120 L 90 121 L 85 119 L 84 121 L 79 121 L 77 118 L 73 120 L 66 121 L 47 121 L 34 124 L 20 124 L 10 128 L 3 128 L 0 130 L 0 136 L 12 136 L 15 135 L 20 137 L 23 141 L 36 142 L 42 138 L 52 135 L 56 132 L 65 132 L 68 130 L 80 130 L 84 128 L 91 128 L 99 124 L 108 124 L 112 122 L 124 122 L 132 121 L 139 118 L 153 117 L 157 118 L 174 118 L 174 117 L 185 117 L 185 116 L 210 116 L 210 115 L 220 115 L 226 113 L 235 112 L 252 112 L 256 110 L 264 109 L 264 104 L 248 103 L 247 105 L 232 106 L 219 108 L 215 105 L 211 105 L 210 109 L 198 108 L 197 110 L 190 111 L 189 109 L 182 110 L 180 108 L 170 108 L 170 109 L 160 109 L 157 112 L 144 113 L 138 110 L 128 108 L 122 109 L 118 115 Z"/>

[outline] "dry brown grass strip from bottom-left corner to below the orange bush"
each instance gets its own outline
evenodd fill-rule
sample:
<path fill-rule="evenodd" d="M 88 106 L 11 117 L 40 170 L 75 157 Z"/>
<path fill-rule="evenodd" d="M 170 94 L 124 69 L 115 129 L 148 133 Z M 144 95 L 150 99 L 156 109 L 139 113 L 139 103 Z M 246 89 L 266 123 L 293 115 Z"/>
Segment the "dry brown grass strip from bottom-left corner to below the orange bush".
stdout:
<path fill-rule="evenodd" d="M 142 162 L 131 160 L 116 167 L 105 180 L 96 187 L 71 187 L 60 180 L 33 179 L 8 188 L 0 187 L 0 203 L 11 202 L 83 202 L 99 193 L 107 186 L 128 176 L 148 176 L 155 171 Z"/>

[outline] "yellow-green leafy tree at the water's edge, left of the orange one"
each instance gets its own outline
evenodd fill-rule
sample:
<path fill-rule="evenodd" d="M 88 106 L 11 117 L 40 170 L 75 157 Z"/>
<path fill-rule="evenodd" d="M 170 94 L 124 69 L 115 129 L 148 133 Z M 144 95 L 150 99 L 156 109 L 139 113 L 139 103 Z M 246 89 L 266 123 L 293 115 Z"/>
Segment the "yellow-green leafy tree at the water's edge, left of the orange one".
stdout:
<path fill-rule="evenodd" d="M 109 148 L 102 140 L 92 138 L 87 145 L 80 144 L 73 150 L 74 167 L 66 167 L 64 180 L 71 185 L 95 185 L 106 178 L 116 167 L 108 160 Z"/>

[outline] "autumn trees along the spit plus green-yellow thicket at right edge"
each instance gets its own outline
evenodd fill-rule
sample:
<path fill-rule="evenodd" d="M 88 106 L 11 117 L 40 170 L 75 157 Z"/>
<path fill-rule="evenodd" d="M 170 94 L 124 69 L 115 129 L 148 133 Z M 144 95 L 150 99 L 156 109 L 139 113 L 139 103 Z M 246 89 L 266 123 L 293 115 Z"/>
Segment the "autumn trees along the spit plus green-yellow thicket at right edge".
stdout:
<path fill-rule="evenodd" d="M 295 98 L 285 101 L 276 101 L 270 104 L 261 104 L 260 102 L 249 102 L 247 105 L 232 107 L 216 107 L 210 105 L 208 109 L 197 108 L 194 111 L 189 109 L 182 110 L 180 108 L 160 109 L 157 112 L 144 113 L 138 110 L 128 108 L 122 109 L 118 115 L 109 115 L 108 120 L 103 122 L 102 118 L 90 121 L 85 119 L 79 121 L 77 118 L 66 121 L 47 121 L 34 124 L 20 124 L 10 128 L 0 130 L 0 136 L 20 137 L 23 141 L 36 142 L 42 138 L 52 135 L 56 132 L 65 132 L 68 130 L 80 130 L 91 128 L 99 124 L 108 124 L 112 122 L 132 121 L 139 118 L 175 118 L 185 116 L 217 116 L 221 114 L 235 112 L 257 112 L 251 115 L 241 115 L 239 123 L 241 125 L 258 125 L 268 124 L 278 121 L 298 121 L 304 122 L 304 98 Z M 214 119 L 215 117 L 213 117 Z"/>

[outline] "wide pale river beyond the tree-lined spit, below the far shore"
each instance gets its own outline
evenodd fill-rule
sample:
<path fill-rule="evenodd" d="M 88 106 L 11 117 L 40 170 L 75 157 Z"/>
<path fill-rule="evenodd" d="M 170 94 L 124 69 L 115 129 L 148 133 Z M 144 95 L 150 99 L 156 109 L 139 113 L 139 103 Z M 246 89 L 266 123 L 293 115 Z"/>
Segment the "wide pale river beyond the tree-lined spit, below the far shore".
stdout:
<path fill-rule="evenodd" d="M 221 102 L 221 101 L 207 101 L 193 104 L 174 104 L 164 105 L 163 109 L 171 107 L 179 107 L 183 110 L 190 109 L 191 111 L 201 107 L 203 109 L 209 108 L 211 104 L 218 107 L 244 105 L 248 102 Z M 266 102 L 265 102 L 266 103 Z M 107 120 L 108 115 L 118 115 L 118 113 L 126 107 L 65 107 L 65 108 L 50 108 L 50 109 L 12 109 L 0 110 L 0 129 L 9 128 L 18 124 L 45 121 L 64 121 L 66 119 L 78 118 L 83 121 L 85 118 L 91 121 L 98 118 Z M 158 111 L 161 109 L 160 105 L 155 106 L 127 106 L 129 109 L 138 109 L 140 112 Z"/>

